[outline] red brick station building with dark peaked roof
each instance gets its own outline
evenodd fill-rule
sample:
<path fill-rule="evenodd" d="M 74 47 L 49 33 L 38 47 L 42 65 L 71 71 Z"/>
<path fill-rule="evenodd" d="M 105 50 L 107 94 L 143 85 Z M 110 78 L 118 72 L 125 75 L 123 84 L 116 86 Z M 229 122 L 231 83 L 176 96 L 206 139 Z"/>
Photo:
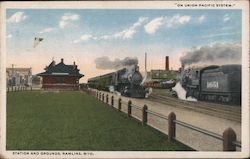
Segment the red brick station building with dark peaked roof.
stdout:
<path fill-rule="evenodd" d="M 78 90 L 79 79 L 84 76 L 79 73 L 75 62 L 73 65 L 65 65 L 63 59 L 57 65 L 53 60 L 44 70 L 37 74 L 42 77 L 44 90 Z"/>

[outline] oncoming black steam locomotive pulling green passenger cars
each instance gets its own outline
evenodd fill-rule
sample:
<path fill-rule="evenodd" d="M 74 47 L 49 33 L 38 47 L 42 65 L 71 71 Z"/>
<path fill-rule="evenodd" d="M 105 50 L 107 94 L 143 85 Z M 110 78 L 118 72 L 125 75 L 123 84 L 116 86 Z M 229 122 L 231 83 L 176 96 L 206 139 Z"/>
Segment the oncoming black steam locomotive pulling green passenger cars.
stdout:
<path fill-rule="evenodd" d="M 104 91 L 117 91 L 133 98 L 145 98 L 146 90 L 141 85 L 143 77 L 139 67 L 133 65 L 116 72 L 90 78 L 88 86 Z"/>

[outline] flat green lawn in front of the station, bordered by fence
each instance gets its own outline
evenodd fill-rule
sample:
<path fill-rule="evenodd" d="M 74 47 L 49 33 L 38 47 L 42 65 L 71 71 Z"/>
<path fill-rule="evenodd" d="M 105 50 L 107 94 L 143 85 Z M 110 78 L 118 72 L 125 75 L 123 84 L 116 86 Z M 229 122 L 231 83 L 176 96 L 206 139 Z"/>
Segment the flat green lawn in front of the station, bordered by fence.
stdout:
<path fill-rule="evenodd" d="M 7 150 L 189 150 L 84 92 L 7 95 Z"/>

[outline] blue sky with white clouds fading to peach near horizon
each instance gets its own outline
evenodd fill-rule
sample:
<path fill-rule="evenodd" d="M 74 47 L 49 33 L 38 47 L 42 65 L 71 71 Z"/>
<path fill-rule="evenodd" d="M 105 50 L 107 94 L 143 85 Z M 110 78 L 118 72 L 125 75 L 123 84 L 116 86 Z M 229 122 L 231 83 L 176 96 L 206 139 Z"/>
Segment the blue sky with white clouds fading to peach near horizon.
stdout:
<path fill-rule="evenodd" d="M 181 66 L 193 48 L 241 45 L 241 10 L 237 9 L 7 9 L 7 67 L 43 72 L 52 59 L 75 61 L 80 80 L 112 72 L 97 69 L 95 59 L 136 57 L 141 71 Z M 34 38 L 43 38 L 34 47 Z"/>

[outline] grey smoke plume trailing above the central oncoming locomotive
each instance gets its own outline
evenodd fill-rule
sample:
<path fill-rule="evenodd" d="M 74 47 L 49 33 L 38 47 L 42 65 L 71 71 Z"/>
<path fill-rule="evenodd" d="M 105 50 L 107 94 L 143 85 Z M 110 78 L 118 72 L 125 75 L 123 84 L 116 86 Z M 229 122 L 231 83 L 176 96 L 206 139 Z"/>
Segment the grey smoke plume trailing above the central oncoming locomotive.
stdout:
<path fill-rule="evenodd" d="M 103 56 L 95 59 L 96 68 L 98 69 L 120 69 L 123 67 L 137 65 L 138 59 L 136 57 L 126 57 L 123 60 L 110 60 L 109 57 Z"/>

